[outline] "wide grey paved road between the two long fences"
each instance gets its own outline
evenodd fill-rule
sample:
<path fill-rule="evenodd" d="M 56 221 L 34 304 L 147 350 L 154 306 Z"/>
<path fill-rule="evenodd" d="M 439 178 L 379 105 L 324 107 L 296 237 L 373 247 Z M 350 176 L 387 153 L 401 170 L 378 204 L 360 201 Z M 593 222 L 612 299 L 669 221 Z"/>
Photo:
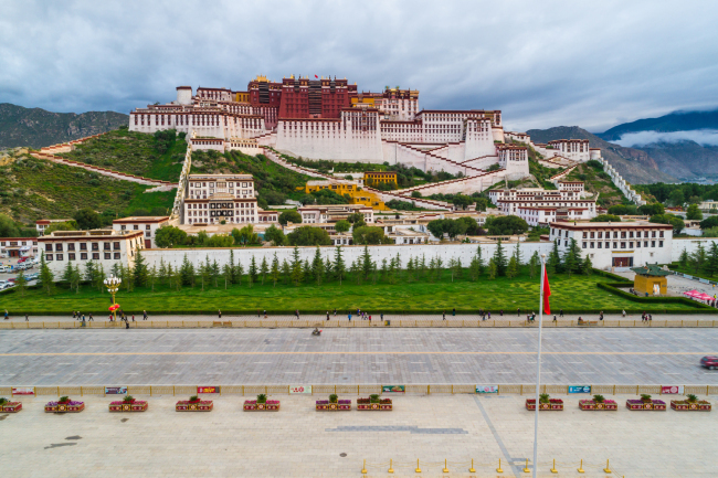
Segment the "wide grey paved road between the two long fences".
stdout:
<path fill-rule="evenodd" d="M 0 385 L 532 383 L 536 330 L 9 330 Z M 715 329 L 543 332 L 545 383 L 718 384 Z"/>

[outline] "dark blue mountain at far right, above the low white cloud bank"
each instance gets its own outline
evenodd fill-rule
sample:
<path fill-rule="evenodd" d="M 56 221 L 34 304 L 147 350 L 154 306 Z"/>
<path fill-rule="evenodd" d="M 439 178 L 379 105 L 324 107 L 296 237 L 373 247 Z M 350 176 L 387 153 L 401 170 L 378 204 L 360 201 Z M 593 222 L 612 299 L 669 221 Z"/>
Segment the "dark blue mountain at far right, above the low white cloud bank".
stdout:
<path fill-rule="evenodd" d="M 596 136 L 608 141 L 615 141 L 629 132 L 640 131 L 691 131 L 695 129 L 718 129 L 718 109 L 712 111 L 675 111 L 658 118 L 638 119 L 624 123 L 599 132 Z"/>

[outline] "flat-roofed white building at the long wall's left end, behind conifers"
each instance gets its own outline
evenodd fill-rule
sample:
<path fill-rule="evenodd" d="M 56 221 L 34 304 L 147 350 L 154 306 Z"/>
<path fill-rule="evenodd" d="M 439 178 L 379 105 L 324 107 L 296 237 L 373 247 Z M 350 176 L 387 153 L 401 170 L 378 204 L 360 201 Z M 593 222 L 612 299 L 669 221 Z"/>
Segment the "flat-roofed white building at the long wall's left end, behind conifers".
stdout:
<path fill-rule="evenodd" d="M 145 248 L 144 231 L 55 231 L 38 237 L 40 251 L 45 262 L 60 280 L 67 263 L 80 265 L 84 273 L 85 264 L 93 261 L 104 267 L 105 274 L 114 264 L 125 267 L 135 265 L 137 251 Z"/>

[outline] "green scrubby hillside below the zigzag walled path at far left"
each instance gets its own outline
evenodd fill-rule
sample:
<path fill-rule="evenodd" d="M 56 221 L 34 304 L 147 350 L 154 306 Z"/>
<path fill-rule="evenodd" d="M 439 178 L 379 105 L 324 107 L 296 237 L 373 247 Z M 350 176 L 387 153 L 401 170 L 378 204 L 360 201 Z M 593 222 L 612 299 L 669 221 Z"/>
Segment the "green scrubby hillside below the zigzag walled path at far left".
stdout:
<path fill-rule="evenodd" d="M 144 193 L 149 187 L 80 168 L 35 159 L 24 150 L 0 157 L 0 213 L 15 221 L 71 217 L 91 208 L 106 215 L 171 208 L 177 190 Z"/>

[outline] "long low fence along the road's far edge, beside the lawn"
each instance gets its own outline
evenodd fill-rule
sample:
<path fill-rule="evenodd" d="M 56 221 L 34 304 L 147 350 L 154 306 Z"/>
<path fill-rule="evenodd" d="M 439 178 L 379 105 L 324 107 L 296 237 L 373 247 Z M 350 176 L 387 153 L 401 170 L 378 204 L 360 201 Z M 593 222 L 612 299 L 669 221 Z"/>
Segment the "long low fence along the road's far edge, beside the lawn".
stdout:
<path fill-rule="evenodd" d="M 125 328 L 125 322 L 86 322 L 85 326 L 78 321 L 42 321 L 42 322 L 0 322 L 0 330 L 2 329 L 119 329 Z M 231 320 L 231 321 L 211 321 L 211 320 L 139 320 L 129 322 L 130 329 L 207 329 L 207 328 L 232 328 L 232 329 L 256 329 L 256 328 L 405 328 L 405 327 L 421 327 L 421 328 L 476 328 L 476 329 L 490 329 L 490 328 L 537 328 L 538 322 L 528 322 L 525 319 L 517 320 L 462 320 L 462 319 L 446 319 L 446 320 L 427 320 L 427 319 L 391 319 L 391 320 L 292 320 L 292 319 L 255 319 L 255 320 Z M 715 328 L 718 327 L 718 320 L 700 320 L 700 319 L 683 319 L 683 320 L 584 320 L 579 323 L 577 320 L 545 320 L 545 328 L 615 328 L 615 327 L 637 327 L 637 328 Z"/>

